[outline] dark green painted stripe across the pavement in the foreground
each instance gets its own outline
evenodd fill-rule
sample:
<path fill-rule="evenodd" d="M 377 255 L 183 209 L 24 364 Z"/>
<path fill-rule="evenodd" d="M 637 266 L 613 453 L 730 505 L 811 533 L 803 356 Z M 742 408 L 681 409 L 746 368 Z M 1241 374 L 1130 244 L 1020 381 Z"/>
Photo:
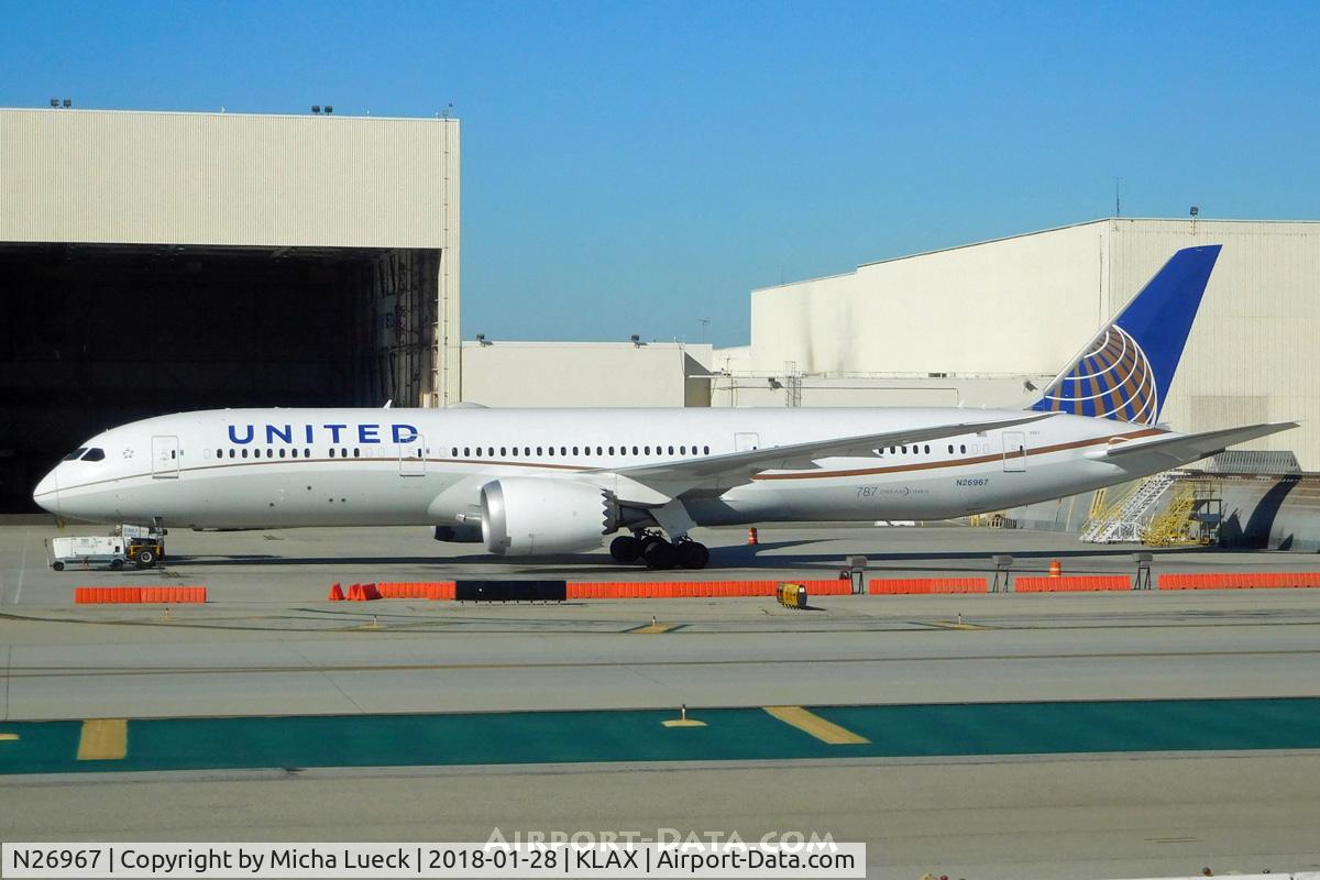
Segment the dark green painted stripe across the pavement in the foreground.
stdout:
<path fill-rule="evenodd" d="M 1320 698 L 824 706 L 849 757 L 1320 748 Z M 838 757 L 762 708 L 129 720 L 127 755 L 78 761 L 79 722 L 7 724 L 0 774 L 269 767 Z"/>

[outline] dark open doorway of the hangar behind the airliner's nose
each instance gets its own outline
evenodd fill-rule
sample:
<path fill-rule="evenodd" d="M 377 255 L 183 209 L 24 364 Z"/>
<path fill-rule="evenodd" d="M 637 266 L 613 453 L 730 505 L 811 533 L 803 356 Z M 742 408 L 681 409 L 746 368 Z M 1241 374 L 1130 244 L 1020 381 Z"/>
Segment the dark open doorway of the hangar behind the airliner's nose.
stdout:
<path fill-rule="evenodd" d="M 0 512 L 79 442 L 239 406 L 417 405 L 440 251 L 0 244 Z"/>

